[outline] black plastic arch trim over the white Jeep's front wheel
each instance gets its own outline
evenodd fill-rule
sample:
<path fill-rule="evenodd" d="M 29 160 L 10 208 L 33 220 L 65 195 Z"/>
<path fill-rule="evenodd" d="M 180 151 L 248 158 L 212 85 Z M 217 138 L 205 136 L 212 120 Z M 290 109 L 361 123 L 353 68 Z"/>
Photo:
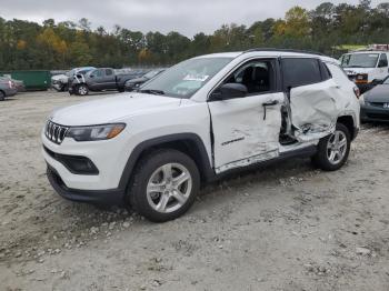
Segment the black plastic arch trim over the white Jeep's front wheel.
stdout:
<path fill-rule="evenodd" d="M 177 133 L 142 141 L 131 152 L 122 175 L 119 188 L 126 189 L 130 182 L 133 170 L 138 162 L 148 153 L 159 149 L 176 149 L 188 154 L 197 164 L 201 182 L 210 181 L 215 178 L 206 146 L 196 133 Z"/>

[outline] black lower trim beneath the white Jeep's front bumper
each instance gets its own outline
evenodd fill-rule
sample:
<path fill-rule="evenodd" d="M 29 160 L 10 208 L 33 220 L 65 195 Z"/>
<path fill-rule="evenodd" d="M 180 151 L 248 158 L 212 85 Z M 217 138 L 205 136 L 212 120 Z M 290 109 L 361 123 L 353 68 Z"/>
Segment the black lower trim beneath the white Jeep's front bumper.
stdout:
<path fill-rule="evenodd" d="M 94 204 L 123 204 L 124 193 L 121 190 L 78 190 L 68 188 L 58 172 L 48 164 L 47 177 L 50 184 L 62 198 Z"/>

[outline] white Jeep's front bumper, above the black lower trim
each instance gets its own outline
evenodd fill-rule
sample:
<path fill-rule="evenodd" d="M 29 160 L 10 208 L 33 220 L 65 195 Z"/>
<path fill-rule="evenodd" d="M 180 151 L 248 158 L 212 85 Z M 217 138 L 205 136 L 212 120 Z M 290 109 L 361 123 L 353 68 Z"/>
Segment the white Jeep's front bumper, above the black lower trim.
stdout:
<path fill-rule="evenodd" d="M 131 153 L 126 134 L 120 134 L 109 141 L 93 142 L 77 142 L 73 139 L 64 138 L 61 144 L 57 144 L 50 141 L 42 131 L 41 139 L 43 143 L 42 154 L 46 162 L 56 170 L 67 188 L 87 191 L 111 191 L 123 190 L 127 187 L 127 184 L 121 183 L 123 170 Z M 74 157 L 82 157 L 83 161 L 90 161 L 97 171 L 94 173 L 80 172 L 80 169 L 83 169 L 83 167 L 79 168 L 83 163 L 82 160 L 81 164 L 76 165 L 67 159 Z"/>

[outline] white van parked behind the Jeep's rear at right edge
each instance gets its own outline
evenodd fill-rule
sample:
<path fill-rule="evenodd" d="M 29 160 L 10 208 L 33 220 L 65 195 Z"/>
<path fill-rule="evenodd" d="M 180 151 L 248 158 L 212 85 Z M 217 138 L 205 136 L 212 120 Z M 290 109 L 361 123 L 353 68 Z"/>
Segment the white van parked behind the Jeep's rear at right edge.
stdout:
<path fill-rule="evenodd" d="M 340 63 L 350 80 L 366 91 L 373 86 L 373 81 L 389 74 L 388 59 L 389 51 L 361 50 L 343 54 Z"/>

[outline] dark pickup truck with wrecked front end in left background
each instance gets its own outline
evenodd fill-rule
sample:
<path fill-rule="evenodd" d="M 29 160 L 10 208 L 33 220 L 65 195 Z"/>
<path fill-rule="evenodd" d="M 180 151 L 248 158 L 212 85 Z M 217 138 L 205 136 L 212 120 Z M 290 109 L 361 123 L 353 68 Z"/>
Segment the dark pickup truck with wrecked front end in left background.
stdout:
<path fill-rule="evenodd" d="M 69 93 L 86 96 L 89 91 L 107 91 L 117 90 L 124 91 L 124 83 L 128 80 L 140 77 L 143 71 L 129 71 L 122 73 L 120 70 L 111 68 L 99 68 L 91 70 L 84 76 L 76 74 L 74 78 L 69 79 Z"/>

